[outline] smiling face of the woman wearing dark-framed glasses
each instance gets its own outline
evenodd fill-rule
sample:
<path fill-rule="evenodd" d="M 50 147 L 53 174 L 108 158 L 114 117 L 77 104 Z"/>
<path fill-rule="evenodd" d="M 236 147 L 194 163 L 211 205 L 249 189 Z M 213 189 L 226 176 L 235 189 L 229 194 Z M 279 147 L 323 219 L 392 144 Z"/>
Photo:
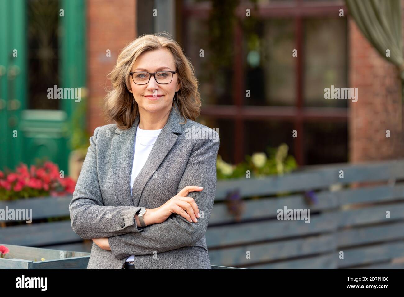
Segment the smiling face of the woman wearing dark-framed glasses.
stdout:
<path fill-rule="evenodd" d="M 157 71 L 175 71 L 174 57 L 171 52 L 162 48 L 143 52 L 136 60 L 130 72 L 147 71 L 154 73 Z M 133 76 L 139 75 L 134 73 Z M 141 77 L 144 77 L 141 75 Z M 180 89 L 178 73 L 173 75 L 173 80 L 169 84 L 158 84 L 154 76 L 150 76 L 147 84 L 135 84 L 130 77 L 130 86 L 133 91 L 133 98 L 139 105 L 140 111 L 158 113 L 170 110 L 173 105 L 175 92 Z"/>

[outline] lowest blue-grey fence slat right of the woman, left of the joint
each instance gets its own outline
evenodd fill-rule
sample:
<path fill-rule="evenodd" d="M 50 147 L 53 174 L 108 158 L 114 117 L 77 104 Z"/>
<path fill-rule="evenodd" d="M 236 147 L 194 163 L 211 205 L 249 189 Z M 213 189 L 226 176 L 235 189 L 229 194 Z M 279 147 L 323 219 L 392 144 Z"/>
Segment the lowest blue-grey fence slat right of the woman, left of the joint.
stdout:
<path fill-rule="evenodd" d="M 271 264 L 244 266 L 250 269 L 336 269 L 334 255 L 321 255 L 317 257 L 296 259 Z"/>

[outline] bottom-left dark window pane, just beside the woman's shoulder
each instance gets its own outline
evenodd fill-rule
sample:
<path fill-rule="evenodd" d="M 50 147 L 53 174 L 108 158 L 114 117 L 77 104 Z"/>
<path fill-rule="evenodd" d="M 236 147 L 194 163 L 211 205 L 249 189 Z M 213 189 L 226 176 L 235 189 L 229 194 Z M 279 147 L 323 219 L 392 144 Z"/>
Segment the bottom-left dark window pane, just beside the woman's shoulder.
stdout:
<path fill-rule="evenodd" d="M 219 133 L 220 147 L 218 155 L 222 157 L 223 161 L 234 164 L 234 121 L 213 119 L 202 115 L 198 117 L 197 121 L 202 125 L 215 129 Z"/>

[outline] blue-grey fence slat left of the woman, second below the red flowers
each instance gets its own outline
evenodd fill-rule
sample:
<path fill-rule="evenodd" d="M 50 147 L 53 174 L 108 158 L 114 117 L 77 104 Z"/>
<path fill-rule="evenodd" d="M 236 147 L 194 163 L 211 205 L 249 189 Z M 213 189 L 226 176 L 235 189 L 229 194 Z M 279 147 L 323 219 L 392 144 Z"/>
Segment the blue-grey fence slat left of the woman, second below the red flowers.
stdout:
<path fill-rule="evenodd" d="M 10 245 L 36 247 L 82 241 L 69 221 L 27 224 L 2 228 L 0 242 Z"/>

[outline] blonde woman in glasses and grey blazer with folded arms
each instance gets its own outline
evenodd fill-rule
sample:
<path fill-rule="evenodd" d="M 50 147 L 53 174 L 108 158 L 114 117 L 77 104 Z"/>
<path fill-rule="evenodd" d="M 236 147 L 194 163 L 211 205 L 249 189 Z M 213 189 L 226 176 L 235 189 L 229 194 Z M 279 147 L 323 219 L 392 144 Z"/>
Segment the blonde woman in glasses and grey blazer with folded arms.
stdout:
<path fill-rule="evenodd" d="M 210 269 L 219 136 L 195 121 L 194 67 L 170 36 L 145 35 L 109 77 L 114 124 L 91 136 L 69 205 L 74 232 L 93 239 L 87 269 Z"/>

